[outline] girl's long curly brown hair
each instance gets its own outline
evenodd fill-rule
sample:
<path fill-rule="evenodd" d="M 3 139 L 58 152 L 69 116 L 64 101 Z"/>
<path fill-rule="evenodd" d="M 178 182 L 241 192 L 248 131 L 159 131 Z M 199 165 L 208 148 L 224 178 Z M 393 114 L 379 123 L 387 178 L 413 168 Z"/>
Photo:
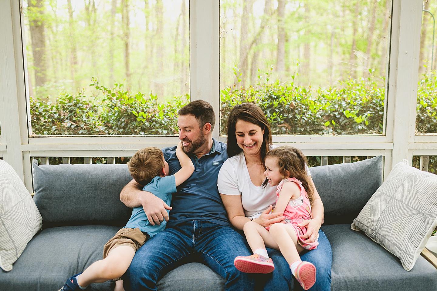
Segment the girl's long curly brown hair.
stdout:
<path fill-rule="evenodd" d="M 305 164 L 308 164 L 308 161 L 302 151 L 295 147 L 281 146 L 269 151 L 267 157 L 277 158 L 277 165 L 282 175 L 285 176 L 285 171 L 288 171 L 290 172 L 290 178 L 296 178 L 302 182 L 312 205 L 314 190 L 309 184 L 308 174 L 305 170 Z"/>

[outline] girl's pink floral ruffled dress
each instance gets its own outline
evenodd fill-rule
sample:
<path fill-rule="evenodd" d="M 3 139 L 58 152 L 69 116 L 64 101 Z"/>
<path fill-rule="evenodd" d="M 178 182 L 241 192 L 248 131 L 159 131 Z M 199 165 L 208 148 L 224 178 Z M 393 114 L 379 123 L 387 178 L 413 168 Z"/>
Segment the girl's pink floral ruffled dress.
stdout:
<path fill-rule="evenodd" d="M 311 219 L 311 204 L 308 199 L 308 194 L 306 193 L 305 188 L 303 188 L 302 186 L 302 182 L 296 178 L 288 178 L 282 180 L 279 185 L 277 185 L 276 202 L 279 198 L 279 193 L 281 192 L 282 186 L 288 181 L 298 184 L 299 188 L 301 189 L 301 195 L 298 199 L 290 199 L 287 207 L 285 207 L 285 223 L 291 224 L 291 226 L 293 226 L 293 228 L 295 229 L 298 235 L 298 244 L 300 244 L 307 250 L 315 249 L 319 245 L 319 242 L 317 240 L 319 238 L 319 235 L 317 235 L 316 241 L 313 243 L 306 243 L 300 238 L 300 236 L 306 233 L 307 228 L 306 226 L 298 226 L 298 224 L 301 223 L 304 219 Z"/>

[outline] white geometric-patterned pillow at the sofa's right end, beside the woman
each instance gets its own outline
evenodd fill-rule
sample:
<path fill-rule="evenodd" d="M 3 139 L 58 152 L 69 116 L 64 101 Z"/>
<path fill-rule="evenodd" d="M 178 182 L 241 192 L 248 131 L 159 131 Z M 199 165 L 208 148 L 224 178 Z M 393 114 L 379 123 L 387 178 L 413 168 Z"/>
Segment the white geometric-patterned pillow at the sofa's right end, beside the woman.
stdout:
<path fill-rule="evenodd" d="M 396 164 L 388 178 L 351 224 L 393 253 L 405 270 L 417 258 L 437 226 L 437 175 Z"/>

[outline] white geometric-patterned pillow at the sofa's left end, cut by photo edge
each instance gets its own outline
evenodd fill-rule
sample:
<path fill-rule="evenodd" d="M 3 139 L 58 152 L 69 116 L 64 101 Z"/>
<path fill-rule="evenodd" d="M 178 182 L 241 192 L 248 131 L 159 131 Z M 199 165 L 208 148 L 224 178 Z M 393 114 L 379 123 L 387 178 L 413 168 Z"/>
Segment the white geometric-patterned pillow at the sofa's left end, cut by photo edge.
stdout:
<path fill-rule="evenodd" d="M 42 217 L 14 169 L 0 160 L 0 267 L 12 270 L 29 240 L 42 228 Z"/>

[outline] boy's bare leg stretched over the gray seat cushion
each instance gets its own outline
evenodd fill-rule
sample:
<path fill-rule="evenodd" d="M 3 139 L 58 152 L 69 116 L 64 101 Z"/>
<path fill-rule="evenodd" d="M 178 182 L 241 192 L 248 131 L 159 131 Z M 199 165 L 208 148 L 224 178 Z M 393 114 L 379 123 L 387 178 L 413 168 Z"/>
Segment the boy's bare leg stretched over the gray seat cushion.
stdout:
<path fill-rule="evenodd" d="M 134 255 L 135 250 L 131 246 L 118 246 L 109 252 L 108 257 L 87 267 L 77 277 L 77 283 L 85 287 L 91 283 L 103 283 L 121 277 L 131 264 Z"/>

